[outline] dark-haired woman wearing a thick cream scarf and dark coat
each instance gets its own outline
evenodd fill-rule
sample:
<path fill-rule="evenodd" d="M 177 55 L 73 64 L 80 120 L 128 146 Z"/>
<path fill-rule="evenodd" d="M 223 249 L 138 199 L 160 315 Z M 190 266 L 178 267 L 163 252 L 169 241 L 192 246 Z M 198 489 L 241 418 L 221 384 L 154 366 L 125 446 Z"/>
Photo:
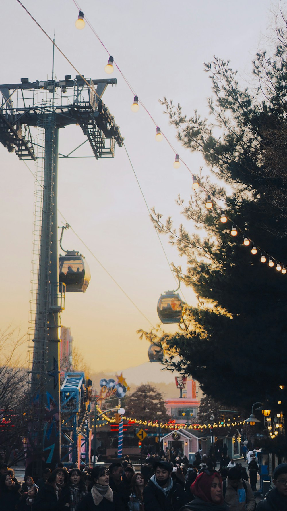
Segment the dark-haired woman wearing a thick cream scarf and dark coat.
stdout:
<path fill-rule="evenodd" d="M 93 486 L 82 498 L 77 511 L 121 511 L 121 503 L 109 486 L 109 473 L 106 467 L 91 470 Z"/>

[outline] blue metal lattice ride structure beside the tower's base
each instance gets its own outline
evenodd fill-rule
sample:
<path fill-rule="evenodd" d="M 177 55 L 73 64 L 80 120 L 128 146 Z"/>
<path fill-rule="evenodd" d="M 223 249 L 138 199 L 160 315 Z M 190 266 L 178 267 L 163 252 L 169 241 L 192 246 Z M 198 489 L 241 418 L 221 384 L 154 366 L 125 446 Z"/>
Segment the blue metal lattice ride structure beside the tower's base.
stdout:
<path fill-rule="evenodd" d="M 78 463 L 78 438 L 84 446 L 84 462 L 89 463 L 91 403 L 91 380 L 85 373 L 65 373 L 61 386 L 61 461 L 65 466 L 76 467 Z"/>

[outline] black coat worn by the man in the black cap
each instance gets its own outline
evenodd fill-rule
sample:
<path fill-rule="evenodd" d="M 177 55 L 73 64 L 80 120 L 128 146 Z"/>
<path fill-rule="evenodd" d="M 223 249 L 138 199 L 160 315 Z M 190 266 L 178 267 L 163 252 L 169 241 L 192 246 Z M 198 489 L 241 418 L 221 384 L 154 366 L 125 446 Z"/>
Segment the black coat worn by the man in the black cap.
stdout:
<path fill-rule="evenodd" d="M 152 481 L 149 481 L 143 489 L 142 497 L 145 511 L 179 511 L 189 500 L 183 487 L 175 482 L 166 497 Z"/>

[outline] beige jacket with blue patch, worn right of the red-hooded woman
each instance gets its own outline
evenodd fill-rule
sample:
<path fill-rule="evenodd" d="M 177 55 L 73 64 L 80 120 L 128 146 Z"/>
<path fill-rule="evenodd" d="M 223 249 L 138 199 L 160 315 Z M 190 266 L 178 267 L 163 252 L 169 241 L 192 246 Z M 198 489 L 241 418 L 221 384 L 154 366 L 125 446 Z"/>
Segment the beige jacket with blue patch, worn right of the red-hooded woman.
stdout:
<path fill-rule="evenodd" d="M 246 491 L 244 489 L 246 486 Z M 226 479 L 226 493 L 224 502 L 229 506 L 228 511 L 253 511 L 256 506 L 255 498 L 249 482 L 240 479 L 237 490 L 232 488 L 229 479 Z M 223 492 L 224 494 L 224 492 Z"/>

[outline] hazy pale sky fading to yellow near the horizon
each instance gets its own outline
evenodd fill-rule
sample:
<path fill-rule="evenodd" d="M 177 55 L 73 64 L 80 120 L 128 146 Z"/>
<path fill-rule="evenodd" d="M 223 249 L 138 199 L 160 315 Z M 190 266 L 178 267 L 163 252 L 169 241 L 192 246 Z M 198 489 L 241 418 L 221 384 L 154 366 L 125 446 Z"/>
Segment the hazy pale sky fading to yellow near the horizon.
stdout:
<path fill-rule="evenodd" d="M 230 60 L 231 67 L 238 69 L 238 81 L 247 86 L 252 59 L 258 48 L 265 48 L 278 8 L 274 0 L 81 0 L 77 5 L 107 53 L 88 25 L 81 31 L 75 28 L 79 11 L 74 0 L 23 0 L 23 5 L 51 37 L 55 33 L 58 47 L 85 77 L 106 78 L 104 67 L 111 54 L 195 174 L 204 165 L 202 158 L 181 148 L 158 100 L 166 97 L 179 102 L 187 115 L 195 109 L 207 115 L 211 83 L 203 62 L 213 55 Z M 284 8 L 285 2 L 281 5 Z M 51 79 L 51 41 L 16 0 L 6 4 L 5 20 L 0 34 L 0 83 L 19 83 L 21 78 Z M 78 74 L 57 50 L 54 69 L 57 79 Z M 174 169 L 175 154 L 164 140 L 155 141 L 156 128 L 148 113 L 142 107 L 137 113 L 131 111 L 133 94 L 116 68 L 109 78 L 116 78 L 117 85 L 107 87 L 103 101 L 125 138 L 142 193 L 149 208 L 154 206 L 163 218 L 171 215 L 176 226 L 183 217 L 175 200 L 178 194 L 185 201 L 189 199 L 191 175 L 183 165 Z M 61 129 L 59 152 L 67 154 L 83 140 L 79 126 Z M 92 155 L 88 144 L 80 154 Z M 30 308 L 35 164 L 31 160 L 25 164 L 0 145 L 0 165 L 0 328 L 20 328 L 25 336 Z M 66 231 L 64 248 L 85 255 L 91 271 L 85 293 L 66 294 L 62 324 L 70 327 L 75 345 L 93 373 L 124 370 L 146 362 L 149 345 L 139 340 L 136 330 L 150 330 L 159 324 L 158 298 L 176 284 L 125 149 L 115 146 L 113 159 L 60 159 L 58 208 L 58 225 L 67 221 L 78 235 L 71 229 Z M 181 264 L 184 269 L 186 261 L 180 259 L 168 237 L 161 237 L 161 241 L 169 262 Z M 181 291 L 187 303 L 196 304 L 192 289 L 182 285 Z M 165 331 L 176 330 L 176 326 L 167 327 Z"/>

